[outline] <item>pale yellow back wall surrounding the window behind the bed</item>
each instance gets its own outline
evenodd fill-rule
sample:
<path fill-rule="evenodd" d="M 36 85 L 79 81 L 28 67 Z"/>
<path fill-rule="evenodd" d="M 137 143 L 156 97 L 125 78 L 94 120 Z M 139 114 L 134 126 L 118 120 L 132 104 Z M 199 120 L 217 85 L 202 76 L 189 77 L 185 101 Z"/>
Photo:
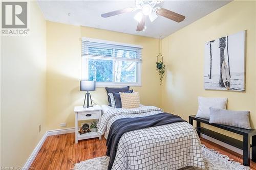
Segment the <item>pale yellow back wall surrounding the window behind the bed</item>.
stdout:
<path fill-rule="evenodd" d="M 74 106 L 83 104 L 84 92 L 79 91 L 81 37 L 142 45 L 142 87 L 132 89 L 140 92 L 142 104 L 161 106 L 161 89 L 155 66 L 158 39 L 47 21 L 48 129 L 60 129 L 59 124 L 65 122 L 66 128 L 74 127 Z M 104 88 L 97 88 L 91 94 L 98 105 L 107 103 Z"/>

